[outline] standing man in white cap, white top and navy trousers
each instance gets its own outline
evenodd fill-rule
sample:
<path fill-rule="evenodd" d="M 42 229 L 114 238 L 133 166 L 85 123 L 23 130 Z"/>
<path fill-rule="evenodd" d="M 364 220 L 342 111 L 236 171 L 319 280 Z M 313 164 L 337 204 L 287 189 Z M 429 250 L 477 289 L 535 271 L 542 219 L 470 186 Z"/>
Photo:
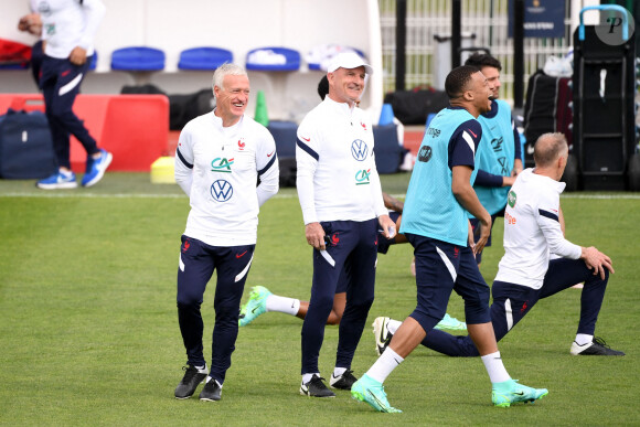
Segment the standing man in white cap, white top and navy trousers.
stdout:
<path fill-rule="evenodd" d="M 373 303 L 377 227 L 395 235 L 382 199 L 373 153 L 373 130 L 356 107 L 373 68 L 356 53 L 343 52 L 328 67 L 329 95 L 298 128 L 297 189 L 307 243 L 313 246 L 313 280 L 302 324 L 300 394 L 334 397 L 318 369 L 324 325 L 335 287 L 346 275 L 346 306 L 339 329 L 330 385 L 351 389 L 351 361 Z"/>

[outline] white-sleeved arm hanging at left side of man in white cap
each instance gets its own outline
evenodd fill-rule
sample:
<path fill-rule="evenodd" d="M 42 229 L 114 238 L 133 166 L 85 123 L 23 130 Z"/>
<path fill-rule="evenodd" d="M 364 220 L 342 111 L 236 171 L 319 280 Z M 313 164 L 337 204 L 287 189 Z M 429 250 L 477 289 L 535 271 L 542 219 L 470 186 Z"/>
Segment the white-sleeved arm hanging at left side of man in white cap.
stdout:
<path fill-rule="evenodd" d="M 324 229 L 316 215 L 316 194 L 313 178 L 320 154 L 318 152 L 318 136 L 307 126 L 305 121 L 298 128 L 298 140 L 296 141 L 296 164 L 298 168 L 296 175 L 296 189 L 298 200 L 302 209 L 305 221 L 305 237 L 307 243 L 316 249 L 326 249 Z"/>

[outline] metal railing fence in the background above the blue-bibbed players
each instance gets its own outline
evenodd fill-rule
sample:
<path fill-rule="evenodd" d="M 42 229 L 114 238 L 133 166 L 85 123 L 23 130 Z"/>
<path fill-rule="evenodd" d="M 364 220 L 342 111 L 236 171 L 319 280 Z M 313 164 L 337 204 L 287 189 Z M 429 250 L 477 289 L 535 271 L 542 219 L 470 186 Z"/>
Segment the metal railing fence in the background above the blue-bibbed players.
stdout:
<path fill-rule="evenodd" d="M 395 89 L 396 0 L 378 0 L 384 92 Z M 474 47 L 489 47 L 502 63 L 501 97 L 513 99 L 513 40 L 508 38 L 509 0 L 462 0 L 462 32 L 476 35 Z M 565 36 L 559 39 L 524 39 L 524 84 L 551 55 L 564 56 L 570 45 L 569 6 L 566 1 Z M 434 84 L 434 35 L 451 33 L 450 0 L 407 0 L 406 88 Z"/>

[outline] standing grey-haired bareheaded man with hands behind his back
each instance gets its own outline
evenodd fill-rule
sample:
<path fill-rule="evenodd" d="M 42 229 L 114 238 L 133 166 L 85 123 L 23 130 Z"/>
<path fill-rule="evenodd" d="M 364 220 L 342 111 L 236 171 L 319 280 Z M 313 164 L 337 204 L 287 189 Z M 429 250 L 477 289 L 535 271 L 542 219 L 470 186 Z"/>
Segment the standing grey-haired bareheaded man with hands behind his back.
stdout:
<path fill-rule="evenodd" d="M 249 96 L 246 71 L 235 64 L 220 66 L 213 74 L 213 94 L 216 108 L 184 126 L 175 150 L 175 182 L 191 204 L 178 270 L 178 321 L 186 350 L 185 373 L 174 392 L 180 399 L 191 397 L 204 378 L 200 399 L 221 399 L 254 259 L 259 206 L 278 191 L 276 142 L 264 126 L 244 115 Z M 215 325 L 207 372 L 200 306 L 214 270 Z"/>

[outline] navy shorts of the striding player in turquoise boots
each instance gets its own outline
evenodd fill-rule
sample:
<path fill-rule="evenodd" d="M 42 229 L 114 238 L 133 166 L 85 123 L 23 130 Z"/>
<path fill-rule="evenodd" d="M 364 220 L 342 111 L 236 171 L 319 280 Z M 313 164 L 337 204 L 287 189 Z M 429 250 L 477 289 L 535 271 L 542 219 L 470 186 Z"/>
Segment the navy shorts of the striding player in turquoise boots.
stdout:
<path fill-rule="evenodd" d="M 409 316 L 429 332 L 447 312 L 451 290 L 465 300 L 467 323 L 491 321 L 489 285 L 468 246 L 406 233 L 416 257 L 418 303 Z"/>

